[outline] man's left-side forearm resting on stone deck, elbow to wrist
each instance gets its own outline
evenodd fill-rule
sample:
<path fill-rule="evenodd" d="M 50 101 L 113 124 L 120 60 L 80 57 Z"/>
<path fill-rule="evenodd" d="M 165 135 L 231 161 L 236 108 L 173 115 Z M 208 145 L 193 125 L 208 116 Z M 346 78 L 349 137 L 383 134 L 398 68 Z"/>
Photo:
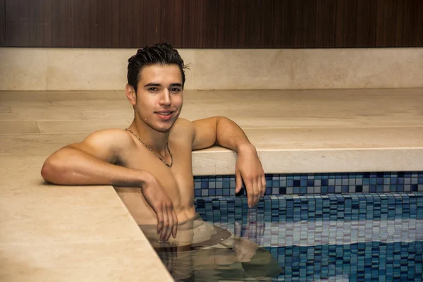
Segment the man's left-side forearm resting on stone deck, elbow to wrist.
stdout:
<path fill-rule="evenodd" d="M 49 157 L 42 167 L 42 177 L 58 185 L 117 185 L 141 187 L 149 173 L 125 168 L 66 147 Z"/>

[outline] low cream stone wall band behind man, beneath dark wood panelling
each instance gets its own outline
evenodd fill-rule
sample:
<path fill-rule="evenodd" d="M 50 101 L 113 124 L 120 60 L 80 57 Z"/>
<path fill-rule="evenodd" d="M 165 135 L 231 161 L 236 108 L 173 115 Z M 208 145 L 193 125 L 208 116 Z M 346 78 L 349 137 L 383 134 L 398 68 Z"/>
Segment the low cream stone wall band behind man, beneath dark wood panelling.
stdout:
<path fill-rule="evenodd" d="M 0 48 L 0 90 L 123 90 L 135 51 Z M 179 51 L 187 90 L 423 87 L 423 48 Z"/>

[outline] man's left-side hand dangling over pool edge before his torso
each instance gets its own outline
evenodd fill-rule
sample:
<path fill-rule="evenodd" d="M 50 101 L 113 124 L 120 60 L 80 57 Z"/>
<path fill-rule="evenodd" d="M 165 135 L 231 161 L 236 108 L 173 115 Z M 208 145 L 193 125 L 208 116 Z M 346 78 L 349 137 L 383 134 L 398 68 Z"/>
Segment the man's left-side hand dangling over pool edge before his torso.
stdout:
<path fill-rule="evenodd" d="M 178 229 L 178 217 L 173 209 L 171 198 L 167 195 L 159 180 L 153 175 L 149 175 L 141 188 L 147 203 L 157 214 L 157 234 L 160 234 L 161 241 L 167 241 L 171 234 L 176 238 Z"/>

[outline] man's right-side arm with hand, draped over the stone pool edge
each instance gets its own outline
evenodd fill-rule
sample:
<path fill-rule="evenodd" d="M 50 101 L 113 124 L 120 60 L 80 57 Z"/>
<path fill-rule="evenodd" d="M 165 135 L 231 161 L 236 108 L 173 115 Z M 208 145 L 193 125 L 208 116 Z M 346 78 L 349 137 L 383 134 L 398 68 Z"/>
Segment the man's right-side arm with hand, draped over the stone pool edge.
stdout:
<path fill-rule="evenodd" d="M 266 192 L 266 180 L 257 151 L 243 130 L 230 119 L 220 116 L 192 121 L 192 125 L 192 149 L 204 149 L 216 144 L 238 153 L 235 192 L 241 190 L 244 180 L 249 207 L 257 204 L 259 197 Z"/>

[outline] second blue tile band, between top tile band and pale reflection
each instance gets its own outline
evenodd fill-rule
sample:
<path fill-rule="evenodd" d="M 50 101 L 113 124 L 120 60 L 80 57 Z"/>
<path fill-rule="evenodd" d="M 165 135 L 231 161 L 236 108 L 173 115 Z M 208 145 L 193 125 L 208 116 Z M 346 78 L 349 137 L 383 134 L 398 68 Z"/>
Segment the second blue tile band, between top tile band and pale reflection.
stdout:
<path fill-rule="evenodd" d="M 247 219 L 247 197 L 195 199 L 195 210 L 204 221 L 233 223 Z M 259 201 L 255 214 L 264 221 L 363 219 L 423 219 L 423 192 L 351 195 L 270 195 Z M 227 226 L 225 226 L 227 227 Z"/>

